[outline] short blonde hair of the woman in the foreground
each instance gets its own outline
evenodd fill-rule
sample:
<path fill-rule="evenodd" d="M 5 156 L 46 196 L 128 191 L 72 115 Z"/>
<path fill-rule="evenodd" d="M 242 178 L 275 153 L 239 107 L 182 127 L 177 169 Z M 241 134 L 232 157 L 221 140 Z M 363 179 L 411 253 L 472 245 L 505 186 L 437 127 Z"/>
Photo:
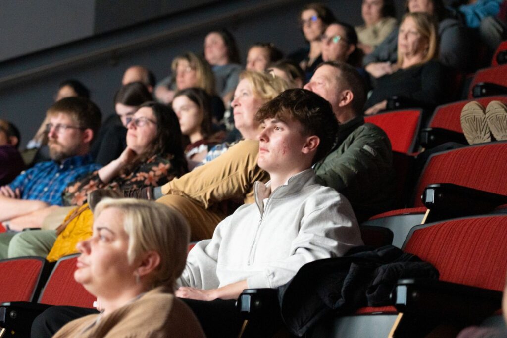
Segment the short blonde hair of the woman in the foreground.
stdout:
<path fill-rule="evenodd" d="M 151 288 L 165 285 L 174 288 L 174 282 L 185 268 L 190 228 L 187 220 L 176 210 L 161 203 L 137 199 L 105 198 L 94 209 L 94 218 L 108 208 L 123 214 L 123 229 L 129 237 L 127 258 L 129 264 L 149 251 L 160 255 L 160 264 L 148 277 Z"/>

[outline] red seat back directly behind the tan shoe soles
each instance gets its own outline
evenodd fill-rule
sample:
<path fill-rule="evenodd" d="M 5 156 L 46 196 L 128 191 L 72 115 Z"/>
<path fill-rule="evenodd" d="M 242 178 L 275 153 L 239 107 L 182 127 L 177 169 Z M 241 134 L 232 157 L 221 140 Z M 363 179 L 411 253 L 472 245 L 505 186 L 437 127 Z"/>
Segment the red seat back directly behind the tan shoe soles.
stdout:
<path fill-rule="evenodd" d="M 467 104 L 470 101 L 477 101 L 486 108 L 488 103 L 491 101 L 501 101 L 503 103 L 507 103 L 507 96 L 506 95 L 486 96 L 479 99 L 464 100 L 438 106 L 433 112 L 433 117 L 429 122 L 429 127 L 442 128 L 462 134 L 463 129 L 461 129 L 460 122 L 461 110 L 463 109 L 465 104 Z"/>

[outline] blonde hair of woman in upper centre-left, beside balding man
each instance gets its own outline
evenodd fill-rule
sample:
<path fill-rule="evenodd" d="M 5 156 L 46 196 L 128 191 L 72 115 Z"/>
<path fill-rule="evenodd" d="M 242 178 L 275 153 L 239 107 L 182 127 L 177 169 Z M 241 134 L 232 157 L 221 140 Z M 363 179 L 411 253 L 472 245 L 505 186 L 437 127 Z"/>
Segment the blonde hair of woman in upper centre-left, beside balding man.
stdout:
<path fill-rule="evenodd" d="M 185 60 L 189 63 L 190 68 L 196 71 L 197 83 L 192 87 L 202 88 L 208 95 L 215 95 L 215 76 L 211 70 L 209 63 L 202 57 L 195 55 L 192 52 L 187 52 L 182 55 L 176 56 L 172 60 L 171 69 L 173 80 L 176 81 L 176 67 L 178 62 Z M 177 88 L 178 90 L 185 88 Z"/>

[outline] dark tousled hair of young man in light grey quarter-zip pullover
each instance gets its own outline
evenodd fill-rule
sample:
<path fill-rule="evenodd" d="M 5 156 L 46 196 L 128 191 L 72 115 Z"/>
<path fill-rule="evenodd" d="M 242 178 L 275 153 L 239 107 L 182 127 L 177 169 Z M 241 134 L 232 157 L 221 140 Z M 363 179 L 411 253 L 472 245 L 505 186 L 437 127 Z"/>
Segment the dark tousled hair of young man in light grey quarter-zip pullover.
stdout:
<path fill-rule="evenodd" d="M 256 119 L 276 118 L 280 121 L 297 121 L 303 135 L 317 135 L 320 143 L 312 163 L 322 160 L 331 151 L 338 132 L 338 121 L 331 104 L 306 89 L 287 89 L 263 104 Z"/>

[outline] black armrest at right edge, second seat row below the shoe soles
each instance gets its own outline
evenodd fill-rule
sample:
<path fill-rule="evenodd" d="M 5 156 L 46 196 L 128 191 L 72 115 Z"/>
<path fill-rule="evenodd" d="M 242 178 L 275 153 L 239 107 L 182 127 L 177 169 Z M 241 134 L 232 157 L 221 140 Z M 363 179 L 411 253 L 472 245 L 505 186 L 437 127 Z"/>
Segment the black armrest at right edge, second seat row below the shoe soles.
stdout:
<path fill-rule="evenodd" d="M 429 184 L 421 198 L 431 210 L 428 221 L 488 213 L 507 203 L 507 196 L 452 183 Z"/>

